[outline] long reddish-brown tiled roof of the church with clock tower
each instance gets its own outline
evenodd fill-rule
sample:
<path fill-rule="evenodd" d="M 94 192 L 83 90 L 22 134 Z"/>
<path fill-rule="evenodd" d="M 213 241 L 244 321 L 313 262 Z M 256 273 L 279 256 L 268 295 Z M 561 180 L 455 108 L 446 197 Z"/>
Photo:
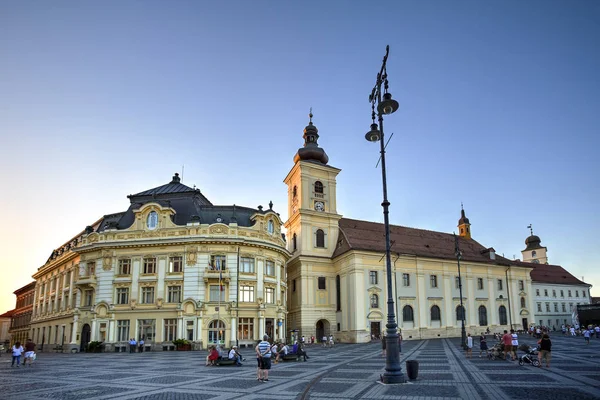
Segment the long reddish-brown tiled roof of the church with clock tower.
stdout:
<path fill-rule="evenodd" d="M 339 222 L 340 236 L 333 257 L 350 250 L 385 252 L 385 228 L 377 222 L 342 218 Z M 490 258 L 490 249 L 473 239 L 458 236 L 463 261 L 511 265 L 511 261 L 495 256 Z M 390 244 L 394 254 L 456 260 L 454 235 L 424 229 L 390 225 Z"/>

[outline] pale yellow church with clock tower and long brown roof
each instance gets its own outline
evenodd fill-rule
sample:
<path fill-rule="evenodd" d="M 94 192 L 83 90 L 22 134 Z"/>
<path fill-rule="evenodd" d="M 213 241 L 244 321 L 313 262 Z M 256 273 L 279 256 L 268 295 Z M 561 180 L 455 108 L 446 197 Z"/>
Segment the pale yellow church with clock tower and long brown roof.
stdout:
<path fill-rule="evenodd" d="M 340 169 L 318 145 L 311 120 L 304 147 L 284 182 L 288 187 L 288 326 L 306 336 L 332 334 L 366 342 L 385 330 L 385 231 L 380 223 L 337 212 Z M 452 234 L 391 226 L 392 297 L 404 338 L 460 336 L 522 328 L 533 317 L 530 271 L 472 239 L 464 210 Z M 462 259 L 460 306 L 456 247 Z"/>

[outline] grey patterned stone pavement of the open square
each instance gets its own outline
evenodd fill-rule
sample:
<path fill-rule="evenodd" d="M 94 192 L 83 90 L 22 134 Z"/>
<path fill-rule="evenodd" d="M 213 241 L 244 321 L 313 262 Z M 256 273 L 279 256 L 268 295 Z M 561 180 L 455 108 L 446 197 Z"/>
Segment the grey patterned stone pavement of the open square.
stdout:
<path fill-rule="evenodd" d="M 459 339 L 403 344 L 405 361 L 419 361 L 416 380 L 378 382 L 384 372 L 379 343 L 308 347 L 308 362 L 273 365 L 268 382 L 256 380 L 256 360 L 242 367 L 205 367 L 205 352 L 143 354 L 41 353 L 32 367 L 11 368 L 0 357 L 0 399 L 598 399 L 600 339 L 554 334 L 551 368 L 465 359 Z M 489 340 L 491 343 L 492 340 Z M 520 343 L 534 344 L 527 335 Z M 477 347 L 477 346 L 476 346 Z"/>

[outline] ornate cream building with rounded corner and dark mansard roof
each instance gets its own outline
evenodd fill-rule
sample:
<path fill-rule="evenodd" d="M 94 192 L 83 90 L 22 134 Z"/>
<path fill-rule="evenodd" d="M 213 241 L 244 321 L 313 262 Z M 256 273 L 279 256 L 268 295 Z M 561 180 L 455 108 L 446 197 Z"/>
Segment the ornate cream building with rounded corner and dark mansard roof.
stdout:
<path fill-rule="evenodd" d="M 130 338 L 169 350 L 175 339 L 200 349 L 285 337 L 289 253 L 272 203 L 213 205 L 178 174 L 128 198 L 126 211 L 88 226 L 40 268 L 35 332 L 62 327 L 68 337 L 53 343 L 83 350 L 100 341 L 106 351 Z M 53 300 L 67 289 L 67 300 Z"/>

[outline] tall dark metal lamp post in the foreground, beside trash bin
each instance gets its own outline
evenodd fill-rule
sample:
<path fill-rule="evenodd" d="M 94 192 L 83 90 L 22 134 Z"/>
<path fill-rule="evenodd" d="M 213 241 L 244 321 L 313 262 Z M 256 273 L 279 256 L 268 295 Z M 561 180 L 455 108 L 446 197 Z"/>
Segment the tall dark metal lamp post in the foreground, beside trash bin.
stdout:
<path fill-rule="evenodd" d="M 394 315 L 394 298 L 392 297 L 392 261 L 390 255 L 390 219 L 389 206 L 390 202 L 387 199 L 387 181 L 385 175 L 385 146 L 383 143 L 383 115 L 394 113 L 398 109 L 398 102 L 392 100 L 392 94 L 388 92 L 388 79 L 386 63 L 390 52 L 390 46 L 385 48 L 385 56 L 381 70 L 377 74 L 375 87 L 369 95 L 369 103 L 371 103 L 371 130 L 367 132 L 365 138 L 369 142 L 379 142 L 381 153 L 381 178 L 383 180 L 383 219 L 385 225 L 385 263 L 387 274 L 387 306 L 388 318 L 386 326 L 386 358 L 385 358 L 385 373 L 381 376 L 381 381 L 386 384 L 404 383 L 404 375 L 402 366 L 400 365 L 400 347 L 398 343 L 398 325 Z M 383 93 L 381 86 L 383 85 Z M 377 107 L 376 107 L 377 106 Z M 377 108 L 377 114 L 375 114 Z M 375 117 L 378 117 L 379 127 L 375 123 Z"/>

